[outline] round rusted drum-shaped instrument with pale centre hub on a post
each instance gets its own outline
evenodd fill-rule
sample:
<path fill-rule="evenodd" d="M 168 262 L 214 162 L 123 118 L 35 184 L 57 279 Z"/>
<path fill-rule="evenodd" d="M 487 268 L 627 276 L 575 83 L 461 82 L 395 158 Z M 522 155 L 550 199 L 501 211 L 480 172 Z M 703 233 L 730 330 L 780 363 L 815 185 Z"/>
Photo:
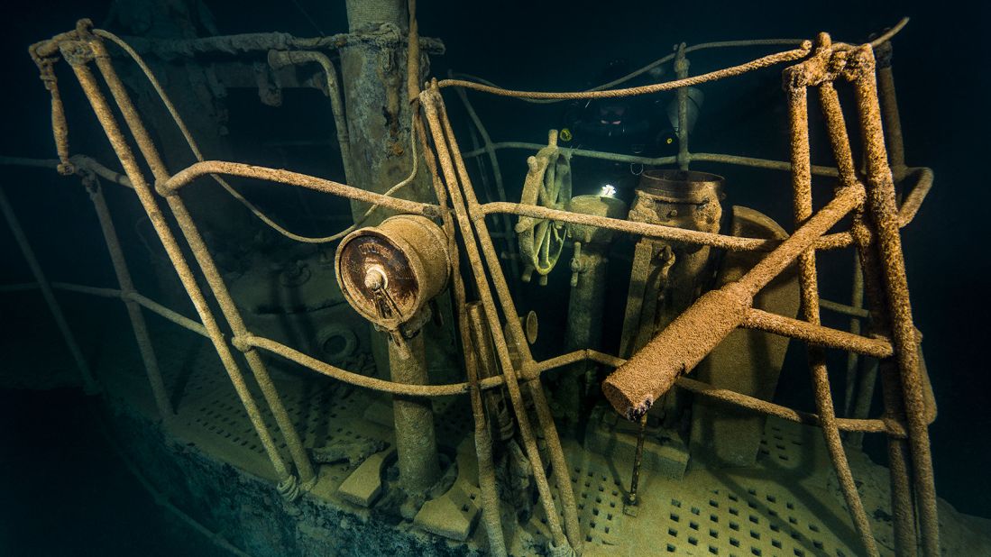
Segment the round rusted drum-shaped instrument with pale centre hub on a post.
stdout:
<path fill-rule="evenodd" d="M 347 235 L 334 258 L 345 299 L 366 319 L 407 337 L 450 275 L 447 236 L 433 221 L 397 215 Z M 393 339 L 400 340 L 393 334 Z"/>

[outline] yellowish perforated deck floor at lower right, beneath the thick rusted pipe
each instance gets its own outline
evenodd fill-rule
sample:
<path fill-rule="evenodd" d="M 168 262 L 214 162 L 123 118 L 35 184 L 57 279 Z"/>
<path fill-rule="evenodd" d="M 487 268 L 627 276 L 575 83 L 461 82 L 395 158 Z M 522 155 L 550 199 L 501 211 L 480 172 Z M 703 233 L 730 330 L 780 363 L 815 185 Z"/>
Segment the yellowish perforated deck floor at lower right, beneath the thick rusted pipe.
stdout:
<path fill-rule="evenodd" d="M 827 463 L 818 435 L 769 420 L 758 469 L 690 470 L 680 481 L 645 471 L 636 516 L 623 512 L 630 463 L 568 445 L 569 460 L 581 463 L 573 466 L 571 480 L 586 550 L 593 555 L 856 555 L 858 542 L 844 507 L 826 491 L 828 469 L 815 468 Z M 537 516 L 543 526 L 543 513 Z M 546 527 L 540 533 L 546 539 Z"/>

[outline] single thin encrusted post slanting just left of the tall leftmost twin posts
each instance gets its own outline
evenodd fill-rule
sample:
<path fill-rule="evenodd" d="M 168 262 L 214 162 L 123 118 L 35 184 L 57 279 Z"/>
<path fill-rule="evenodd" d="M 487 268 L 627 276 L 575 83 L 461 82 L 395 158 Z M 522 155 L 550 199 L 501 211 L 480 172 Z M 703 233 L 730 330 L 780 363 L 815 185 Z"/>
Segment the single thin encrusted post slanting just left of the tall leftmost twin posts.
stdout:
<path fill-rule="evenodd" d="M 135 340 L 138 342 L 138 350 L 141 352 L 141 360 L 145 364 L 145 373 L 148 375 L 148 383 L 152 386 L 152 395 L 155 397 L 155 404 L 159 408 L 159 415 L 167 425 L 174 415 L 168 394 L 165 390 L 165 382 L 162 380 L 162 371 L 159 369 L 159 360 L 155 357 L 155 347 L 152 339 L 148 335 L 148 325 L 145 323 L 145 316 L 141 312 L 141 306 L 134 300 L 132 295 L 136 292 L 134 280 L 131 272 L 128 271 L 127 260 L 124 258 L 124 251 L 121 250 L 120 239 L 117 237 L 117 230 L 114 228 L 114 221 L 110 216 L 110 209 L 107 207 L 107 200 L 103 197 L 103 189 L 94 174 L 83 177 L 86 189 L 89 191 L 89 199 L 96 209 L 96 217 L 100 221 L 100 230 L 103 232 L 103 239 L 107 244 L 107 251 L 110 252 L 110 262 L 114 266 L 114 274 L 117 275 L 117 282 L 121 287 L 121 298 L 127 308 L 128 318 L 131 320 L 131 328 L 134 329 Z"/>

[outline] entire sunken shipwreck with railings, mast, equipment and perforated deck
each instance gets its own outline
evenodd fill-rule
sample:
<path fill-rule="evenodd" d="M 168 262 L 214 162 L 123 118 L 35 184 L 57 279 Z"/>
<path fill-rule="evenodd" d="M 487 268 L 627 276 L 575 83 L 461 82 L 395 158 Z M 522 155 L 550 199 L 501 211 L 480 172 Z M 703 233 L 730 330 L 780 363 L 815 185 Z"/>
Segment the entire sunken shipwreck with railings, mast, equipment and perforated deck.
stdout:
<path fill-rule="evenodd" d="M 900 233 L 934 183 L 905 160 L 892 43 L 907 20 L 856 44 L 682 43 L 548 92 L 434 75 L 445 47 L 419 36 L 412 1 L 348 1 L 348 33 L 317 38 L 143 34 L 139 4 L 115 4 L 132 33 L 81 20 L 31 46 L 57 158 L 0 159 L 88 194 L 118 283 L 47 278 L 0 189 L 34 277 L 4 289 L 40 290 L 136 474 L 217 554 L 991 552 L 934 480 Z M 760 56 L 692 71 L 716 49 Z M 786 150 L 691 151 L 707 86 L 753 72 L 782 85 Z M 265 130 L 229 140 L 244 114 L 225 99 L 302 90 L 332 115 L 334 160 L 242 162 L 259 159 L 238 146 L 312 151 Z M 626 120 L 661 94 L 667 135 Z M 500 97 L 577 115 L 499 143 L 473 102 Z M 660 147 L 583 139 L 641 132 Z M 791 220 L 747 205 L 738 182 L 765 175 L 790 183 L 773 195 Z M 136 218 L 156 254 L 141 273 L 118 234 Z M 837 253 L 843 301 L 820 292 Z M 76 294 L 126 308 L 100 366 L 61 309 Z M 814 412 L 776 401 L 802 371 L 789 350 Z"/>

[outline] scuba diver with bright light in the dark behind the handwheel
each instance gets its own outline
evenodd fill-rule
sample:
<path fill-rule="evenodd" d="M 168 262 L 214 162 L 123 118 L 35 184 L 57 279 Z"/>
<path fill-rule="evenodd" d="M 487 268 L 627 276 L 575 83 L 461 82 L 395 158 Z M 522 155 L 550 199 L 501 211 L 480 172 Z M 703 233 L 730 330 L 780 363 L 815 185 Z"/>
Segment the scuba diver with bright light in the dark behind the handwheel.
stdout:
<path fill-rule="evenodd" d="M 625 60 L 612 60 L 599 73 L 594 85 L 614 81 L 629 72 Z M 648 72 L 648 75 L 651 82 L 658 82 L 663 73 L 663 66 L 659 66 Z M 624 83 L 621 86 L 630 85 Z M 687 129 L 691 133 L 699 119 L 705 97 L 701 90 L 689 88 L 688 99 Z M 677 97 L 672 92 L 664 95 L 575 101 L 565 111 L 558 133 L 558 145 L 646 158 L 677 155 Z M 644 170 L 640 164 L 598 159 L 583 159 L 579 165 L 583 167 L 582 171 L 575 175 L 584 175 L 586 179 L 575 184 L 578 190 L 576 193 L 601 191 L 625 201 L 632 199 L 633 188 L 639 180 L 639 174 Z"/>

